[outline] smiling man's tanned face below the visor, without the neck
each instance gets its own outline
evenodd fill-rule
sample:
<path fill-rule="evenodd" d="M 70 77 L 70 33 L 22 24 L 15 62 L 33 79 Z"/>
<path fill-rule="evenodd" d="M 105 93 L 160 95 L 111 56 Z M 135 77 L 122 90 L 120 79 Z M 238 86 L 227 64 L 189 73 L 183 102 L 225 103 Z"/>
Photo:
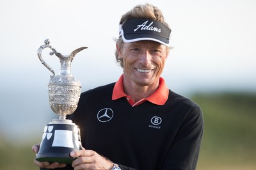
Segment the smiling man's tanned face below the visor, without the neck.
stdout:
<path fill-rule="evenodd" d="M 153 41 L 124 43 L 118 49 L 124 60 L 124 79 L 139 86 L 158 84 L 168 57 L 168 47 Z"/>

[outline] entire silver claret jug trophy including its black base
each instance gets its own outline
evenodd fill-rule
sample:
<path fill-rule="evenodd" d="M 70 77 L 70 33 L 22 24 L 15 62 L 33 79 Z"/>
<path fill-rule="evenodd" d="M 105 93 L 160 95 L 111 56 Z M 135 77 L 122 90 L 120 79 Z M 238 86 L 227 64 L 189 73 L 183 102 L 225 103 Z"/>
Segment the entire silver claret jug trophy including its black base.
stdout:
<path fill-rule="evenodd" d="M 70 65 L 77 52 L 87 47 L 81 47 L 70 55 L 63 56 L 49 45 L 48 39 L 44 43 L 38 49 L 37 55 L 42 64 L 52 72 L 48 84 L 49 104 L 59 118 L 45 125 L 36 160 L 72 164 L 74 158 L 70 157 L 69 153 L 81 150 L 81 136 L 79 127 L 71 120 L 67 120 L 66 116 L 76 111 L 81 94 L 81 83 L 72 75 Z M 61 68 L 58 75 L 55 75 L 51 66 L 47 65 L 42 58 L 42 50 L 45 48 L 51 49 L 51 56 L 55 54 L 60 59 Z"/>

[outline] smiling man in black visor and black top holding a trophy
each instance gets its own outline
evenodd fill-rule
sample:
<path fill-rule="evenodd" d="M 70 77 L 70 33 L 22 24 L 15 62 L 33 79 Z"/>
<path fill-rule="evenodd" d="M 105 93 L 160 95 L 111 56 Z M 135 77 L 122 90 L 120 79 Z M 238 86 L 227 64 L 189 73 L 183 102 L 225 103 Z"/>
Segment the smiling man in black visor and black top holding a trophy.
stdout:
<path fill-rule="evenodd" d="M 167 88 L 161 73 L 171 29 L 161 11 L 138 5 L 120 20 L 116 61 L 120 79 L 81 94 L 70 119 L 81 129 L 85 149 L 62 169 L 196 169 L 203 133 L 198 105 Z M 39 144 L 33 146 L 37 153 Z M 114 163 L 113 163 L 114 162 Z"/>

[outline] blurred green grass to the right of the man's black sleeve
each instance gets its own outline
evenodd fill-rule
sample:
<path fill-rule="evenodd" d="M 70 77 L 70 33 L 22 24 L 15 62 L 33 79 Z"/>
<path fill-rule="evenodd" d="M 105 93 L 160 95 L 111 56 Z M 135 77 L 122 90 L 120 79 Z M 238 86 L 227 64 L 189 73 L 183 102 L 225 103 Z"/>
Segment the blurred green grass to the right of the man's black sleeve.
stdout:
<path fill-rule="evenodd" d="M 256 167 L 256 95 L 195 95 L 204 112 L 204 137 L 198 169 Z M 218 167 L 218 168 L 217 168 Z"/>

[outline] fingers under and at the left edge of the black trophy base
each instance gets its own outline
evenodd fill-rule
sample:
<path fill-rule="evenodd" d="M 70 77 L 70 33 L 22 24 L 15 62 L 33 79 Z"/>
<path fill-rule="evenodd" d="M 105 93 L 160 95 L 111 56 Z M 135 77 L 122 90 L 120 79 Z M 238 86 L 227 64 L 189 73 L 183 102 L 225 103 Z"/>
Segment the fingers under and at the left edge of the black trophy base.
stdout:
<path fill-rule="evenodd" d="M 34 144 L 32 146 L 32 150 L 33 150 L 34 153 L 38 153 L 39 148 L 40 148 L 40 143 Z M 45 167 L 45 168 L 48 168 L 48 169 L 53 169 L 53 168 L 57 168 L 57 167 L 65 167 L 66 166 L 66 164 L 60 164 L 59 162 L 53 162 L 53 163 L 50 164 L 50 162 L 39 162 L 36 159 L 34 160 L 34 164 L 36 166 Z"/>

